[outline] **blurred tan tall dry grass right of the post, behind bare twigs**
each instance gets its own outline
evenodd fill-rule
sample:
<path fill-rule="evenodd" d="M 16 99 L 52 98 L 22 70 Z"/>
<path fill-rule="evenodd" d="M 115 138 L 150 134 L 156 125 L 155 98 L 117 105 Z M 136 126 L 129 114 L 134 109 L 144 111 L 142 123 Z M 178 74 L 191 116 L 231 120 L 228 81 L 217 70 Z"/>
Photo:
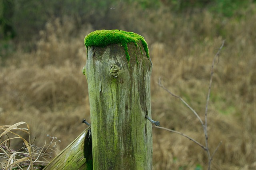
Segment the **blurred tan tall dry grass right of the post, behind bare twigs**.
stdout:
<path fill-rule="evenodd" d="M 227 44 L 215 66 L 208 114 L 211 152 L 220 140 L 223 141 L 214 156 L 213 169 L 256 168 L 256 34 L 253 31 L 256 25 L 250 22 L 255 20 L 255 17 L 255 13 L 248 12 L 239 21 L 226 20 L 222 25 L 226 37 L 213 36 L 211 39 L 210 33 L 216 31 L 216 18 L 206 12 L 200 18 L 200 27 L 209 33 L 200 43 L 190 40 L 193 36 L 186 37 L 186 32 L 193 31 L 194 26 L 184 23 L 187 27 L 182 27 L 181 33 L 185 34 L 180 34 L 172 46 L 159 42 L 151 45 L 150 54 L 154 64 L 153 118 L 160 121 L 164 127 L 181 131 L 204 143 L 200 122 L 184 104 L 161 90 L 156 82 L 161 76 L 165 80 L 165 86 L 174 94 L 182 96 L 203 117 L 210 80 L 210 64 L 222 39 L 226 39 Z M 196 22 L 198 21 L 194 23 Z M 220 20 L 215 22 L 218 23 Z M 155 129 L 154 132 L 154 168 L 194 169 L 196 164 L 206 166 L 207 157 L 204 150 L 191 141 L 159 129 Z"/>

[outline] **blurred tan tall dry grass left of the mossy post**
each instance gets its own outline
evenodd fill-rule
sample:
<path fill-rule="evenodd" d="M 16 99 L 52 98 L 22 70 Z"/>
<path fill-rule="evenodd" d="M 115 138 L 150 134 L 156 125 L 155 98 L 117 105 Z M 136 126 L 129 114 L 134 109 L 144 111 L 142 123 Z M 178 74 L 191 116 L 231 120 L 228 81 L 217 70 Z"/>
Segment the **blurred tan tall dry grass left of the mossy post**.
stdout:
<path fill-rule="evenodd" d="M 49 21 L 35 42 L 36 50 L 17 51 L 0 71 L 1 124 L 27 122 L 37 145 L 44 145 L 46 134 L 61 134 L 63 148 L 84 129 L 82 119 L 90 119 L 81 70 L 86 61 L 84 34 L 92 29 L 85 26 L 72 38 L 77 31 L 72 25 L 70 18 Z"/>

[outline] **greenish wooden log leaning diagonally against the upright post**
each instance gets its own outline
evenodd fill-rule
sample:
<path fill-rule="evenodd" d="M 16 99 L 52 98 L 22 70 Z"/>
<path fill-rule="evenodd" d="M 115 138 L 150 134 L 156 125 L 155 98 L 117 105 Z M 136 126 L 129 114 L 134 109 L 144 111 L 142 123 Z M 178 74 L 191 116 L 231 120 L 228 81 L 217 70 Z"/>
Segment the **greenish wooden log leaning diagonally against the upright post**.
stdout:
<path fill-rule="evenodd" d="M 44 170 L 92 170 L 91 127 L 62 150 Z"/>

